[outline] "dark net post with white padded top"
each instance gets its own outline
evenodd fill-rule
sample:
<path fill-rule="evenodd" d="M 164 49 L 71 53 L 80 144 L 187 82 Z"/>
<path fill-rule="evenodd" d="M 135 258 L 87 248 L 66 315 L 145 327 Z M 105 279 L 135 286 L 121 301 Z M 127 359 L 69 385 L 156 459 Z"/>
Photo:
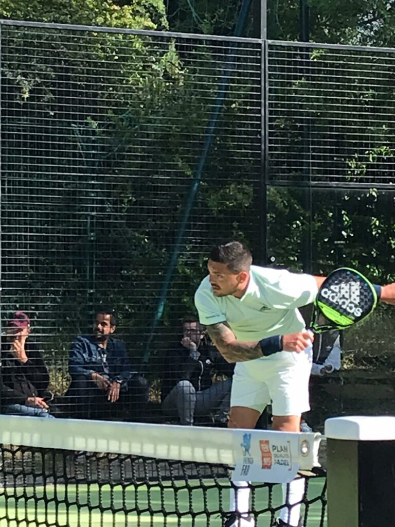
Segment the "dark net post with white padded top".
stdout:
<path fill-rule="evenodd" d="M 325 421 L 328 527 L 393 525 L 395 417 Z"/>

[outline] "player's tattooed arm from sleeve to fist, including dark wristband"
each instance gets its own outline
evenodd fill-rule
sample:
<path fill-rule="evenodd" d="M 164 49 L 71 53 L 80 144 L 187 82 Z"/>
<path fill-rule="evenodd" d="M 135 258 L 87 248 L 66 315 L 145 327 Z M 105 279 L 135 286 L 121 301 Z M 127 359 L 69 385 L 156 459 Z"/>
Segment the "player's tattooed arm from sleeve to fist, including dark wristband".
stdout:
<path fill-rule="evenodd" d="M 313 335 L 310 331 L 300 331 L 299 333 L 276 335 L 275 337 L 254 342 L 240 341 L 236 339 L 226 321 L 208 325 L 206 329 L 215 347 L 229 363 L 258 359 L 282 350 L 286 352 L 301 352 L 313 340 Z"/>

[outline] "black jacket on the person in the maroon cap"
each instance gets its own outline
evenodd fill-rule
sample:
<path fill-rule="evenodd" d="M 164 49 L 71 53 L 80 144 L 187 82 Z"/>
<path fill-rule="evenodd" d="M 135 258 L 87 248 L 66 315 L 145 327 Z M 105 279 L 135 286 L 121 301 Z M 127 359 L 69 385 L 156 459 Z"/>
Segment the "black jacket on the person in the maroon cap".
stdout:
<path fill-rule="evenodd" d="M 9 343 L 2 339 L 1 405 L 25 404 L 27 397 L 48 395 L 50 382 L 48 370 L 40 351 L 34 343 L 26 340 L 27 362 L 19 362 L 9 351 Z"/>

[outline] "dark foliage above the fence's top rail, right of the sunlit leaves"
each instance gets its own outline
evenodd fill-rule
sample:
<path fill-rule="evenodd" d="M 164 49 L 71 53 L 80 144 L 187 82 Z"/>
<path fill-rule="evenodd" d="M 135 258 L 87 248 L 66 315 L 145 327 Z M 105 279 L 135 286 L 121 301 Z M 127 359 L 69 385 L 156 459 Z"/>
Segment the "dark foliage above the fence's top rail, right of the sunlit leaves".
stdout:
<path fill-rule="evenodd" d="M 254 0 L 244 32 L 258 36 L 260 0 Z M 393 0 L 307 0 L 310 38 L 313 42 L 393 46 Z M 240 0 L 167 0 L 170 27 L 174 31 L 232 34 Z M 300 31 L 300 0 L 268 0 L 268 36 L 297 41 Z"/>

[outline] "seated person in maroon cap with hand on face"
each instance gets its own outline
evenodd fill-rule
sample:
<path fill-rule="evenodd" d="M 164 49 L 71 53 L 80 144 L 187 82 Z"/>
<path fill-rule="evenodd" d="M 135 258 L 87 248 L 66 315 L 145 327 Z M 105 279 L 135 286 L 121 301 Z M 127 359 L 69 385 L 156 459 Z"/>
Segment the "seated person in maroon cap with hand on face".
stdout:
<path fill-rule="evenodd" d="M 15 311 L 2 338 L 2 412 L 53 418 L 47 403 L 50 377 L 40 351 L 28 340 L 29 333 L 29 317 Z"/>

